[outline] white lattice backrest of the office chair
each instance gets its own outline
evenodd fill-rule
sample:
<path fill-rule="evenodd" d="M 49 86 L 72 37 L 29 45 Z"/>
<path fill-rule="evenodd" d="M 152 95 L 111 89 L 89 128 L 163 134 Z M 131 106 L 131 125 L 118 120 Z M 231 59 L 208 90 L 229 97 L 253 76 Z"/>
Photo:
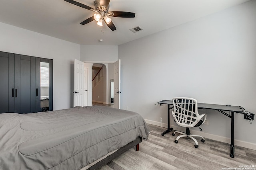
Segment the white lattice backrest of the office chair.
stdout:
<path fill-rule="evenodd" d="M 174 99 L 173 104 L 175 119 L 178 123 L 191 125 L 196 121 L 198 115 L 196 101 L 190 99 Z"/>

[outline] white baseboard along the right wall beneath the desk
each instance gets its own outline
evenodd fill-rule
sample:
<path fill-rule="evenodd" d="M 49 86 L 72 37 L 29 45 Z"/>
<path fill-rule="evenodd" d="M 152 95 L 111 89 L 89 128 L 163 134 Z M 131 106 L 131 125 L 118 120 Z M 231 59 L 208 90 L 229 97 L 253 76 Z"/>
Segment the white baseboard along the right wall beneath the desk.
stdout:
<path fill-rule="evenodd" d="M 167 123 L 152 121 L 152 120 L 148 120 L 148 119 L 145 119 L 145 121 L 146 121 L 146 123 L 151 124 L 151 125 L 156 125 L 156 126 L 167 128 Z M 177 126 L 177 125 L 170 125 L 170 127 L 172 127 L 176 131 L 184 131 L 184 128 L 182 128 L 180 126 Z M 224 143 L 230 143 L 230 138 L 227 138 L 227 137 L 213 135 L 213 134 L 210 134 L 210 133 L 204 133 L 202 131 L 194 131 L 194 130 L 190 130 L 190 131 L 194 135 L 200 135 L 200 136 L 203 136 L 203 137 L 208 138 L 208 139 L 212 139 L 212 140 L 216 140 L 216 141 L 220 141 L 220 142 L 224 142 Z M 255 143 L 250 143 L 250 142 L 240 141 L 240 140 L 234 139 L 234 145 L 256 150 L 256 144 Z"/>

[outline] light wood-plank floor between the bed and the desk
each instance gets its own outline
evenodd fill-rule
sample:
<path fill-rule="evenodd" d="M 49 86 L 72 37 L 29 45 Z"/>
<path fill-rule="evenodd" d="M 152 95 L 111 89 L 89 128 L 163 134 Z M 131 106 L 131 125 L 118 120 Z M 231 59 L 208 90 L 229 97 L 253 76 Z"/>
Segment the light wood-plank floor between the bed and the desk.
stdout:
<path fill-rule="evenodd" d="M 199 147 L 194 147 L 194 141 L 180 138 L 176 144 L 177 135 L 172 132 L 161 133 L 165 128 L 150 126 L 148 141 L 140 143 L 140 150 L 135 147 L 124 152 L 100 170 L 224 170 L 249 166 L 256 170 L 256 150 L 235 146 L 235 158 L 229 154 L 230 144 L 206 139 Z M 245 168 L 244 168 L 245 169 Z"/>

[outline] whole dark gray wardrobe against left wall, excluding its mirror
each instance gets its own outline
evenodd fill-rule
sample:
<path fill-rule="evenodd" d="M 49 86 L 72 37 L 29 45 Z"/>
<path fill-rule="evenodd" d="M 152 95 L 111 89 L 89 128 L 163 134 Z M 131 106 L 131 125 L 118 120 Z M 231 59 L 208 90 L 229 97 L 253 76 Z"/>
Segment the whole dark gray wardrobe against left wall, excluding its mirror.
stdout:
<path fill-rule="evenodd" d="M 0 113 L 41 111 L 40 62 L 49 63 L 49 110 L 53 109 L 53 61 L 0 51 Z"/>

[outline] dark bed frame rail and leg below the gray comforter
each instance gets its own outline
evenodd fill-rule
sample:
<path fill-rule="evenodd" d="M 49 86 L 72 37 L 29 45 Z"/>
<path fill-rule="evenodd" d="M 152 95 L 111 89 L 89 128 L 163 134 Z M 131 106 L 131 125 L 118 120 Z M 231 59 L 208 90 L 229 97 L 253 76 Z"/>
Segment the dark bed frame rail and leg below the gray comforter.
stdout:
<path fill-rule="evenodd" d="M 131 143 L 128 143 L 124 147 L 118 149 L 116 152 L 114 152 L 113 154 L 111 154 L 111 155 L 107 156 L 106 158 L 102 159 L 100 162 L 94 164 L 93 166 L 91 166 L 87 170 L 97 170 L 97 169 L 99 169 L 103 165 L 107 164 L 108 162 L 110 162 L 111 160 L 118 157 L 120 154 L 126 152 L 127 150 L 131 149 L 134 146 L 136 146 L 136 151 L 138 151 L 139 150 L 139 143 L 141 143 L 141 142 L 142 142 L 142 138 L 137 137 L 135 139 L 135 141 L 132 141 Z"/>

